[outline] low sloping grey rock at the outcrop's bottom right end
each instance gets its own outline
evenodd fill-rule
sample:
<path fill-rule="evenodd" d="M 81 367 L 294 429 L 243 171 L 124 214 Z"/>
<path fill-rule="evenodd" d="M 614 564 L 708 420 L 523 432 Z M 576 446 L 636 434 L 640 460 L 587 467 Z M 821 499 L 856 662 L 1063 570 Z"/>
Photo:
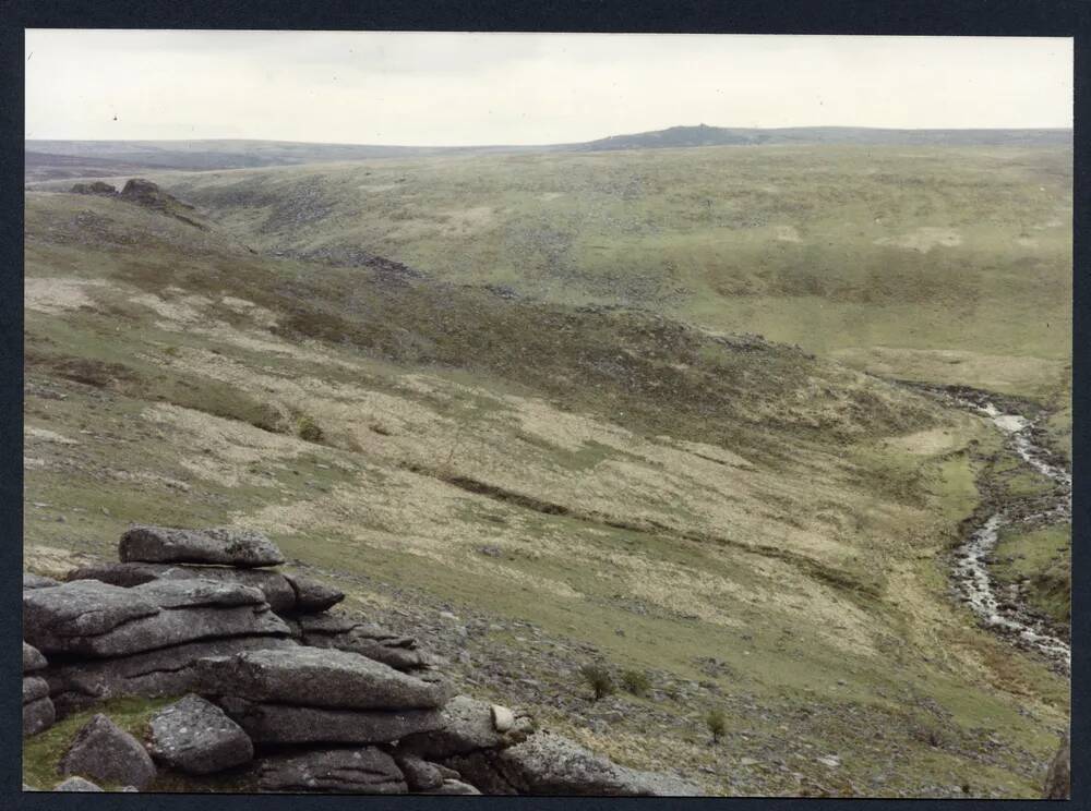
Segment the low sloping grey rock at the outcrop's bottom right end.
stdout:
<path fill-rule="evenodd" d="M 700 794 L 697 786 L 681 778 L 619 766 L 550 733 L 536 733 L 508 749 L 455 756 L 448 765 L 487 794 L 610 797 Z"/>

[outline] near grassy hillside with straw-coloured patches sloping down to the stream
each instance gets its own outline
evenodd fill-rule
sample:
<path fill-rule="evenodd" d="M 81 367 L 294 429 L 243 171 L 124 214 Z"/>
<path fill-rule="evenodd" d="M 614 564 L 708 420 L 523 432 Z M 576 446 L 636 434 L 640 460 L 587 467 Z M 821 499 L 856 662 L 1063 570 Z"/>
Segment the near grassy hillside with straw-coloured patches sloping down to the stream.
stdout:
<path fill-rule="evenodd" d="M 26 222 L 33 568 L 112 557 L 130 521 L 254 525 L 376 615 L 413 594 L 708 681 L 602 736 L 554 701 L 590 654 L 475 643 L 514 651 L 551 726 L 709 791 L 1036 794 L 1067 685 L 936 565 L 979 421 L 789 348 L 269 261 L 119 201 L 31 194 Z M 57 748 L 27 749 L 36 779 Z"/>

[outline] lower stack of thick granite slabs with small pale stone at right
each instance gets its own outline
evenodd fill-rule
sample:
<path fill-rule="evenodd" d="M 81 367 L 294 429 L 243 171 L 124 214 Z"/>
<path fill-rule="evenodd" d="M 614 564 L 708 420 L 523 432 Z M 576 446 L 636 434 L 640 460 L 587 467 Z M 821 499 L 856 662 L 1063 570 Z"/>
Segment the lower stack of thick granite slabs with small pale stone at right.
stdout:
<path fill-rule="evenodd" d="M 197 690 L 263 755 L 265 791 L 478 794 L 428 754 L 521 740 L 528 723 L 352 651 L 300 645 L 197 663 Z M 496 718 L 507 731 L 496 730 Z M 518 727 L 518 728 L 517 728 Z M 403 746 L 416 741 L 416 746 Z"/>

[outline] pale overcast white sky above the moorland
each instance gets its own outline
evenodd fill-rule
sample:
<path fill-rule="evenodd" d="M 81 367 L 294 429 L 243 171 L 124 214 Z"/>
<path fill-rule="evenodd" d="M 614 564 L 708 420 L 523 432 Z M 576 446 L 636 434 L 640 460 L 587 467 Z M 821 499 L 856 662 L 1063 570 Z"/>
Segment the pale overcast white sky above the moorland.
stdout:
<path fill-rule="evenodd" d="M 680 124 L 1057 128 L 1072 40 L 26 31 L 27 138 L 484 145 Z"/>

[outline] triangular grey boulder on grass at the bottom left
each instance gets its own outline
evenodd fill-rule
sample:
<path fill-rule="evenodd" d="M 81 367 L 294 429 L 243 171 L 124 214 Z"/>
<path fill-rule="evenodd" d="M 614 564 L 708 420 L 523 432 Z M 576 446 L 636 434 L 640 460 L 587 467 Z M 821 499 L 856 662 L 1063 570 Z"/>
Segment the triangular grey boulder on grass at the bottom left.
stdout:
<path fill-rule="evenodd" d="M 59 770 L 139 789 L 155 779 L 155 764 L 140 741 L 101 713 L 76 733 Z"/>

